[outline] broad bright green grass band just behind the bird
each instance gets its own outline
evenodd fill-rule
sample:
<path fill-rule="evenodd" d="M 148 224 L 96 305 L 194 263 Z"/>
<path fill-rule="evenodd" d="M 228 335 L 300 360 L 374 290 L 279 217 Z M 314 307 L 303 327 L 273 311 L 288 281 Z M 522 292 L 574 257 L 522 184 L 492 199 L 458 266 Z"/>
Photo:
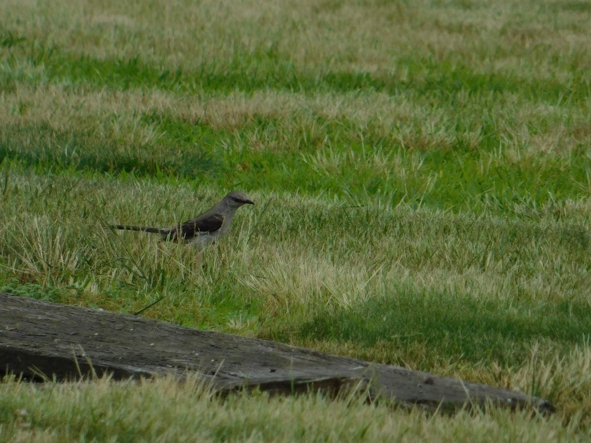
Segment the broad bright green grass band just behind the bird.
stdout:
<path fill-rule="evenodd" d="M 444 141 L 437 150 L 423 150 L 411 149 L 423 137 L 420 130 L 410 128 L 404 141 L 400 133 L 384 136 L 383 129 L 364 129 L 362 122 L 347 117 L 327 119 L 305 111 L 291 118 L 249 115 L 232 131 L 199 118 L 150 113 L 134 120 L 128 125 L 119 121 L 118 128 L 107 132 L 52 128 L 38 120 L 27 126 L 14 123 L 4 126 L 0 158 L 55 172 L 73 168 L 139 177 L 176 175 L 454 211 L 496 208 L 511 213 L 517 206 L 529 206 L 535 214 L 545 204 L 583 198 L 591 190 L 584 145 L 564 155 L 534 155 L 515 144 L 505 150 L 496 122 L 481 129 L 476 139 L 466 136 Z M 119 139 L 125 126 L 135 128 L 128 142 Z M 478 140 L 482 149 L 473 146 Z"/>

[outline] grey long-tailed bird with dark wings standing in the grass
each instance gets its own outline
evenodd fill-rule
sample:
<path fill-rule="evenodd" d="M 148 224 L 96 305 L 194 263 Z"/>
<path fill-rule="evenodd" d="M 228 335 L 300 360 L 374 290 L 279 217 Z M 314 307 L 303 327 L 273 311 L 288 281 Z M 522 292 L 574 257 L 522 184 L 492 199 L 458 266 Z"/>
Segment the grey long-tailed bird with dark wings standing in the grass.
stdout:
<path fill-rule="evenodd" d="M 203 214 L 181 223 L 177 227 L 159 228 L 146 226 L 129 226 L 128 224 L 113 224 L 115 229 L 128 229 L 160 234 L 162 240 L 183 243 L 197 243 L 205 247 L 215 242 L 217 237 L 223 236 L 230 228 L 230 223 L 236 210 L 243 204 L 254 204 L 245 193 L 232 191 L 222 198 L 216 206 Z"/>

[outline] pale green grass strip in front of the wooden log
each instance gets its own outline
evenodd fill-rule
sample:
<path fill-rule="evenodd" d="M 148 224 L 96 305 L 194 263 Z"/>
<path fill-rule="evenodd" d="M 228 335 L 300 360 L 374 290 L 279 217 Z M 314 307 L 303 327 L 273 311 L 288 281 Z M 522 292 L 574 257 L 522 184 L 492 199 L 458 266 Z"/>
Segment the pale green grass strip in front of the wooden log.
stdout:
<path fill-rule="evenodd" d="M 0 388 L 13 396 L 8 407 L 0 403 L 0 417 L 9 422 L 5 436 L 28 441 L 379 441 L 392 435 L 403 442 L 506 437 L 547 441 L 572 435 L 570 426 L 561 427 L 556 418 L 532 419 L 524 412 L 462 412 L 453 418 L 420 411 L 398 414 L 387 406 L 363 406 L 355 397 L 329 402 L 255 394 L 221 401 L 194 380 L 182 386 L 168 379 L 139 385 L 100 380 L 41 389 L 8 382 Z M 145 408 L 154 403 L 161 408 Z M 69 426 L 56 425 L 63 416 Z M 524 434 L 523 421 L 536 426 Z"/>

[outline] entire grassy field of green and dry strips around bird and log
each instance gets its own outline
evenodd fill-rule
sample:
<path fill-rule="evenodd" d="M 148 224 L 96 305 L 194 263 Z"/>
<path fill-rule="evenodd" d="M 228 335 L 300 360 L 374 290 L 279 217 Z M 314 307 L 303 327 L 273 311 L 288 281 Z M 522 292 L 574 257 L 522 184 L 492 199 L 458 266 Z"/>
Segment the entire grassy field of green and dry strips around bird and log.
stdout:
<path fill-rule="evenodd" d="M 7 378 L 0 440 L 587 441 L 589 23 L 584 0 L 4 0 L 0 291 L 164 297 L 142 315 L 558 411 Z M 105 229 L 232 189 L 256 206 L 202 257 Z"/>

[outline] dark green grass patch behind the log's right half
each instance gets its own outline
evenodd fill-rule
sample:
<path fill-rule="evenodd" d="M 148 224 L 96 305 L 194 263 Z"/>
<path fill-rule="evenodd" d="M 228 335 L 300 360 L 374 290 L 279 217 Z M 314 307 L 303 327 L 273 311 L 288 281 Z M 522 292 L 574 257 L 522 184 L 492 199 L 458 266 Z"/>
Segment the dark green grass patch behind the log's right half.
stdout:
<path fill-rule="evenodd" d="M 534 340 L 582 343 L 591 331 L 586 302 L 531 302 L 507 306 L 471 297 L 401 294 L 372 299 L 358 307 L 323 312 L 298 331 L 313 340 L 374 346 L 419 342 L 440 356 L 478 363 L 513 365 L 530 358 Z"/>

